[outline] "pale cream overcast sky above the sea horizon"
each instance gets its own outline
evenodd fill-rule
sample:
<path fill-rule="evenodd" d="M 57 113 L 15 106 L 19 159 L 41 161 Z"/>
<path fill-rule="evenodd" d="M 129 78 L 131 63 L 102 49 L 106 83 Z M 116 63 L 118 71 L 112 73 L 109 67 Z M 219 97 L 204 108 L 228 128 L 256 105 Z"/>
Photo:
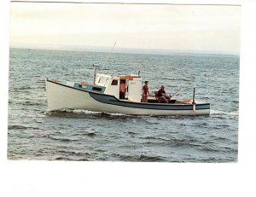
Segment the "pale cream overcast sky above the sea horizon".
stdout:
<path fill-rule="evenodd" d="M 10 3 L 11 47 L 63 45 L 239 54 L 241 7 Z"/>

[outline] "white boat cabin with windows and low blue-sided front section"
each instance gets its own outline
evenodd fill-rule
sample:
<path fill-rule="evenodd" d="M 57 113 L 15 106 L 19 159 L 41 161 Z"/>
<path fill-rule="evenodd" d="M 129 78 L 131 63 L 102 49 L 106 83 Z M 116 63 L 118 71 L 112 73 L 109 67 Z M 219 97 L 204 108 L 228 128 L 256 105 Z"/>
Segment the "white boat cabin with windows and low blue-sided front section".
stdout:
<path fill-rule="evenodd" d="M 94 84 L 80 82 L 75 83 L 73 86 L 75 88 L 82 88 L 84 90 L 95 91 L 119 98 L 119 85 L 121 80 L 125 82 L 126 86 L 125 100 L 140 102 L 142 98 L 142 78 L 136 74 L 112 75 L 97 73 Z"/>

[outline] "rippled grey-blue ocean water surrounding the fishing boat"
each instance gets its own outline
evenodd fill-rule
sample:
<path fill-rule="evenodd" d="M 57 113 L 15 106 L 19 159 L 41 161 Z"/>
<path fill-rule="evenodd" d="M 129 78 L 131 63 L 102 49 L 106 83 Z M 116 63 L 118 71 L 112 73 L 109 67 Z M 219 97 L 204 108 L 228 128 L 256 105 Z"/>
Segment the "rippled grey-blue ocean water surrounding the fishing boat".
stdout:
<path fill-rule="evenodd" d="M 237 162 L 239 56 L 110 55 L 104 72 L 137 73 L 149 90 L 209 101 L 211 114 L 154 117 L 49 112 L 45 78 L 92 82 L 108 53 L 10 49 L 8 159 Z"/>

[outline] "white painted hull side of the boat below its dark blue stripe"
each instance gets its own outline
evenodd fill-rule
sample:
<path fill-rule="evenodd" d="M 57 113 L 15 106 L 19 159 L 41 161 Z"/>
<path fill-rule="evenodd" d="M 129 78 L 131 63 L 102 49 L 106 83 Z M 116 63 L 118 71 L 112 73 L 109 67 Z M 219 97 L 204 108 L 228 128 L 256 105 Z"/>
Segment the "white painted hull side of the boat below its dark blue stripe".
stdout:
<path fill-rule="evenodd" d="M 78 90 L 64 84 L 59 84 L 46 79 L 46 93 L 48 108 L 50 111 L 61 110 L 63 108 L 85 109 L 102 113 L 123 113 L 131 115 L 208 115 L 210 107 L 193 110 L 192 105 L 168 104 L 176 107 L 175 110 L 165 109 L 164 104 L 141 103 L 131 101 L 119 101 L 115 97 L 104 101 L 104 94 L 93 93 L 86 90 Z M 109 96 L 108 96 L 109 97 Z M 103 99 L 102 99 L 103 98 Z M 117 104 L 114 104 L 117 103 Z M 154 105 L 154 106 L 153 106 Z M 166 105 L 166 104 L 165 104 Z M 150 107 L 154 107 L 150 108 Z M 158 109 L 158 107 L 161 107 Z M 167 107 L 167 106 L 166 106 Z M 183 107 L 187 107 L 184 109 Z M 190 107 L 191 109 L 188 109 Z"/>

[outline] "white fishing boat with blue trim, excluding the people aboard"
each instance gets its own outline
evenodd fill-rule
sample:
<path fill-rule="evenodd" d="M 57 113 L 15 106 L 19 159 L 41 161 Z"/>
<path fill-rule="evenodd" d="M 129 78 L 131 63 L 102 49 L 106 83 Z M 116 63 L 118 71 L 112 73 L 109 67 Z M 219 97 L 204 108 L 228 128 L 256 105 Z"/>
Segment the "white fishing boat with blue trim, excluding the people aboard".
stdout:
<path fill-rule="evenodd" d="M 119 85 L 125 81 L 125 98 L 119 98 Z M 138 74 L 95 73 L 93 83 L 61 82 L 45 79 L 46 95 L 50 111 L 84 109 L 102 113 L 131 115 L 175 116 L 209 115 L 210 103 L 192 99 L 161 101 L 157 95 L 142 100 L 142 77 Z"/>

